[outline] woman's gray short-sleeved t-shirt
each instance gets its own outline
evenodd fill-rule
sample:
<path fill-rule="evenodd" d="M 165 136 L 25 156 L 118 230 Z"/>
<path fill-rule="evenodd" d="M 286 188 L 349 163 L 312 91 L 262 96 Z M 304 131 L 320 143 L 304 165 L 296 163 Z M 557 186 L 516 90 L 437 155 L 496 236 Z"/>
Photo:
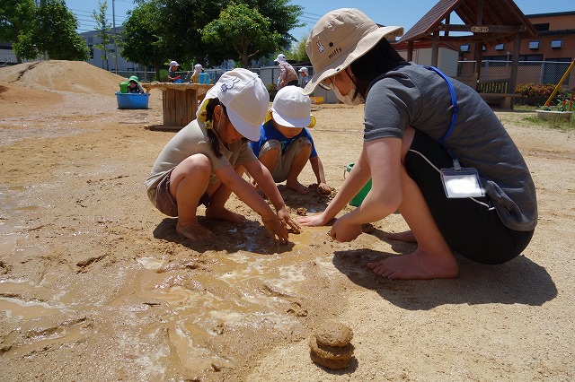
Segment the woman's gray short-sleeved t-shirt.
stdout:
<path fill-rule="evenodd" d="M 456 126 L 445 145 L 464 167 L 479 171 L 501 221 L 512 230 L 537 224 L 535 184 L 521 153 L 499 118 L 467 85 L 451 79 L 458 106 Z M 438 141 L 451 125 L 447 82 L 421 65 L 400 65 L 373 84 L 365 110 L 364 139 L 403 137 L 411 126 Z"/>

